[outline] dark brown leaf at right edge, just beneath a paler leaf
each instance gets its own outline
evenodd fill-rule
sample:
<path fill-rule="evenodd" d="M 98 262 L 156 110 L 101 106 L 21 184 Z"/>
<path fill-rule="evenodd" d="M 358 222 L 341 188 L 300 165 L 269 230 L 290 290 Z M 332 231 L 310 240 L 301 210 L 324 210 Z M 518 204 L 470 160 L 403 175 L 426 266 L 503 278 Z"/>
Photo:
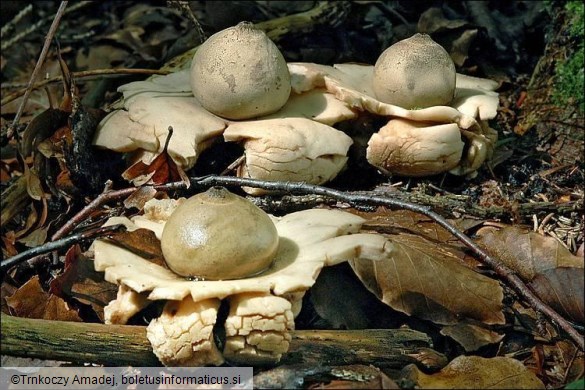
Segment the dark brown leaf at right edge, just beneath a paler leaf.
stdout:
<path fill-rule="evenodd" d="M 558 267 L 537 274 L 528 286 L 559 314 L 584 323 L 583 268 Z"/>

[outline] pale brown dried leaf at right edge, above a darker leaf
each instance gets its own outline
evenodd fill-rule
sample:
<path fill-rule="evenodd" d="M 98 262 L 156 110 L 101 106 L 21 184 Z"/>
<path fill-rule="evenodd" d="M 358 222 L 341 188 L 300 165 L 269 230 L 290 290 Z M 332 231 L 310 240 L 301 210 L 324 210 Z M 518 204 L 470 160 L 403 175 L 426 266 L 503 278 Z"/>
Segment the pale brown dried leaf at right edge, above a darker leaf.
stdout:
<path fill-rule="evenodd" d="M 584 266 L 583 258 L 571 254 L 553 237 L 526 232 L 518 227 L 506 227 L 499 231 L 484 230 L 478 234 L 480 245 L 527 282 L 548 269 L 582 269 Z"/>

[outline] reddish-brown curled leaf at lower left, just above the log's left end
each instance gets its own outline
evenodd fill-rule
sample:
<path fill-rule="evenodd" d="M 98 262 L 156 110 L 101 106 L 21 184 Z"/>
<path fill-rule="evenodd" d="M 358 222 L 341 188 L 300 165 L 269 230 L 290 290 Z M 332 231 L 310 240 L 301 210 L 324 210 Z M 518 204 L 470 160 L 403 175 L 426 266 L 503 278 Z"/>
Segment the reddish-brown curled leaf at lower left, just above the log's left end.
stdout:
<path fill-rule="evenodd" d="M 18 317 L 81 322 L 77 311 L 70 308 L 67 302 L 43 290 L 38 276 L 33 276 L 6 298 L 6 303 Z"/>

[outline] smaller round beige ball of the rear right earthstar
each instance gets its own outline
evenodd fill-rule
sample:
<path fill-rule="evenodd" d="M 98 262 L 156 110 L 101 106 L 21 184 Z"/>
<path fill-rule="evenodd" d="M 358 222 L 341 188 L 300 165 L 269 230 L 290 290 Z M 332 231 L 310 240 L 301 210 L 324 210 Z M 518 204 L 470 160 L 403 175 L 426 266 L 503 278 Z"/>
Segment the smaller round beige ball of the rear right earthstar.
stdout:
<path fill-rule="evenodd" d="M 415 34 L 386 49 L 376 61 L 376 97 L 404 108 L 447 105 L 455 94 L 455 65 L 426 34 Z"/>

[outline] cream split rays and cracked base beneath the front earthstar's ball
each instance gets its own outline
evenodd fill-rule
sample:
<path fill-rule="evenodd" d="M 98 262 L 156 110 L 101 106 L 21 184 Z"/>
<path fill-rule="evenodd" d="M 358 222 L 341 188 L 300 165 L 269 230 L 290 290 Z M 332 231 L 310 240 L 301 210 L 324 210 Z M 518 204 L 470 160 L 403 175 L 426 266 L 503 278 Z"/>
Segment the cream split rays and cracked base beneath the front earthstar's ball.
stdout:
<path fill-rule="evenodd" d="M 227 192 L 217 188 L 210 191 Z M 224 195 L 227 199 L 236 197 Z M 164 231 L 169 210 L 189 200 L 169 201 L 164 206 L 161 202 L 147 202 L 142 218 L 114 217 L 107 224 L 123 223 L 129 230 L 143 227 L 160 234 L 161 227 L 155 225 L 162 225 Z M 241 207 L 240 202 L 248 201 L 227 203 Z M 181 211 L 179 206 L 175 211 L 197 219 L 194 210 L 188 207 Z M 217 218 L 226 219 L 226 214 L 229 216 L 232 211 L 224 209 Z M 171 220 L 173 215 L 174 212 L 170 214 Z M 393 244 L 385 237 L 360 233 L 364 220 L 347 212 L 312 209 L 283 217 L 266 216 L 278 232 L 278 247 L 269 268 L 231 280 L 222 280 L 225 278 L 221 276 L 218 280 L 191 280 L 128 249 L 96 240 L 93 244 L 96 270 L 104 271 L 107 281 L 120 286 L 117 299 L 105 310 L 106 322 L 124 323 L 146 305 L 164 300 L 163 313 L 147 328 L 154 353 L 163 364 L 218 365 L 224 359 L 236 364 L 275 363 L 288 350 L 290 331 L 294 329 L 294 316 L 299 313 L 302 297 L 324 266 L 357 258 L 385 259 L 393 250 Z M 208 222 L 213 224 L 218 220 Z M 240 234 L 233 235 L 234 240 L 240 237 L 243 241 L 236 244 L 246 245 L 240 221 L 224 228 L 239 231 Z M 210 232 L 218 234 L 217 229 Z M 164 232 L 162 236 L 164 239 Z M 221 252 L 217 240 L 209 242 L 214 246 L 211 250 Z M 221 270 L 230 272 L 230 259 L 223 261 L 225 264 L 216 263 L 218 275 Z M 224 324 L 217 324 L 222 300 L 229 305 L 229 313 Z M 223 351 L 219 351 L 214 340 L 213 330 L 217 326 L 225 329 Z"/>

